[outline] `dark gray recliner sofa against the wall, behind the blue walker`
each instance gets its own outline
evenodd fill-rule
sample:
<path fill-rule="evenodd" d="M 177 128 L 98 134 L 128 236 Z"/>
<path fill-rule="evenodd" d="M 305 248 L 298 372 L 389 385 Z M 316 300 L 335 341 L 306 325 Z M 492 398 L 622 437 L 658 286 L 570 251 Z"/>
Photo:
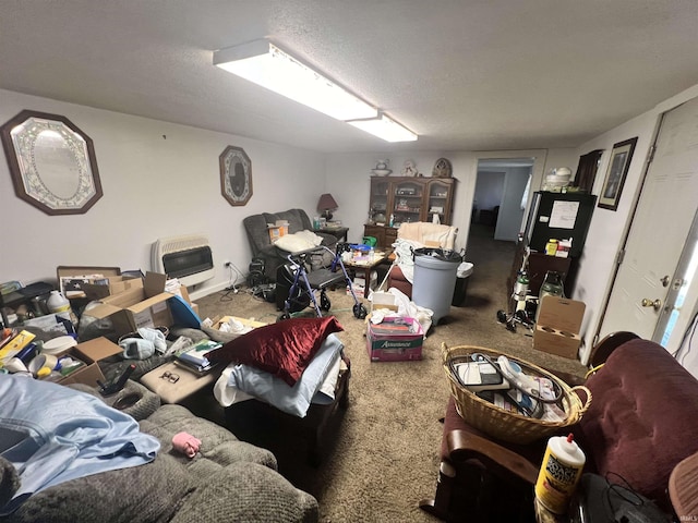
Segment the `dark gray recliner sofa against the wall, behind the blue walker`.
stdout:
<path fill-rule="evenodd" d="M 322 238 L 322 245 L 335 250 L 337 238 L 333 234 L 326 234 L 314 231 L 313 226 L 303 209 L 289 209 L 280 212 L 262 212 L 258 215 L 248 216 L 242 220 L 250 248 L 252 250 L 252 258 L 258 258 L 264 262 L 264 277 L 267 281 L 276 281 L 276 273 L 280 266 L 288 263 L 287 252 L 277 248 L 269 236 L 267 223 L 276 223 L 278 220 L 288 221 L 288 233 L 294 234 L 300 231 L 312 231 Z M 325 253 L 322 260 L 317 260 L 317 265 L 328 265 L 332 257 Z"/>

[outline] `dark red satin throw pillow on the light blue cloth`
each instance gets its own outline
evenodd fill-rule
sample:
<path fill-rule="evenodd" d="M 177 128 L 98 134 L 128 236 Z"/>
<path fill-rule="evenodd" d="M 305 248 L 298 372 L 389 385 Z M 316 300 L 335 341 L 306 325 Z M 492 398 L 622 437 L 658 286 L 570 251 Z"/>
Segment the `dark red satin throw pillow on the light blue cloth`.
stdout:
<path fill-rule="evenodd" d="M 206 354 L 214 363 L 243 363 L 278 376 L 290 387 L 333 332 L 344 330 L 334 316 L 291 318 L 258 327 Z"/>

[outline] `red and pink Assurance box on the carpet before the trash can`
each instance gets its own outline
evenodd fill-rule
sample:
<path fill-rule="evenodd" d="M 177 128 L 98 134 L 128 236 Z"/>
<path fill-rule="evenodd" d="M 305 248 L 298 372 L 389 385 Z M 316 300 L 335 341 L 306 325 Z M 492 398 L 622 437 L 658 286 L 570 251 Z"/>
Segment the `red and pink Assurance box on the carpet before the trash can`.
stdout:
<path fill-rule="evenodd" d="M 366 349 L 372 362 L 421 360 L 423 343 L 422 326 L 414 318 L 385 318 L 377 325 L 369 321 Z"/>

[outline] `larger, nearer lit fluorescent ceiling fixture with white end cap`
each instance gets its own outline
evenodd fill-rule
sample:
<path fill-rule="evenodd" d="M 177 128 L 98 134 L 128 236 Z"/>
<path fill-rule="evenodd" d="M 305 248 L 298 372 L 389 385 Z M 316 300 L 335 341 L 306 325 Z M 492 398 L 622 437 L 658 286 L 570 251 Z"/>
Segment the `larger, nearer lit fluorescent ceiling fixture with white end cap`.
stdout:
<path fill-rule="evenodd" d="M 214 51 L 214 65 L 337 120 L 375 118 L 375 107 L 266 39 Z"/>

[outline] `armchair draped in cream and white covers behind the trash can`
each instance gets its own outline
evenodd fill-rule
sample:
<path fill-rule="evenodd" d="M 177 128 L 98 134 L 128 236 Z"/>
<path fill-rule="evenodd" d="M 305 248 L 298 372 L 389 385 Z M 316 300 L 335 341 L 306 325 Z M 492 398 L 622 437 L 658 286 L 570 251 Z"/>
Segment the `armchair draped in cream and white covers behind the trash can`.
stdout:
<path fill-rule="evenodd" d="M 458 229 L 452 226 L 417 221 L 402 223 L 397 230 L 397 243 L 395 254 L 396 265 L 388 273 L 388 288 L 402 292 L 408 297 L 412 297 L 412 268 L 413 260 L 410 247 L 441 247 L 454 248 Z M 400 242 L 404 240 L 406 242 Z"/>

